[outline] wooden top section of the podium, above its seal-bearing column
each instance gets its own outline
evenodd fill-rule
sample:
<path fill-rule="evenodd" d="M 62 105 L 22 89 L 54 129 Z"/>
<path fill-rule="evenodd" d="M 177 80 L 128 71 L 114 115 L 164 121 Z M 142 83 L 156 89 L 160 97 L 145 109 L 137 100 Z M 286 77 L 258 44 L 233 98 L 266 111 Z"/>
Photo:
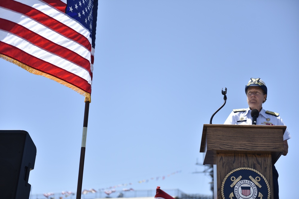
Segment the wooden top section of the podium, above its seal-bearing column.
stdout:
<path fill-rule="evenodd" d="M 283 153 L 286 126 L 204 124 L 200 152 L 204 164 L 213 164 L 216 153 L 271 154 L 273 164 Z"/>

